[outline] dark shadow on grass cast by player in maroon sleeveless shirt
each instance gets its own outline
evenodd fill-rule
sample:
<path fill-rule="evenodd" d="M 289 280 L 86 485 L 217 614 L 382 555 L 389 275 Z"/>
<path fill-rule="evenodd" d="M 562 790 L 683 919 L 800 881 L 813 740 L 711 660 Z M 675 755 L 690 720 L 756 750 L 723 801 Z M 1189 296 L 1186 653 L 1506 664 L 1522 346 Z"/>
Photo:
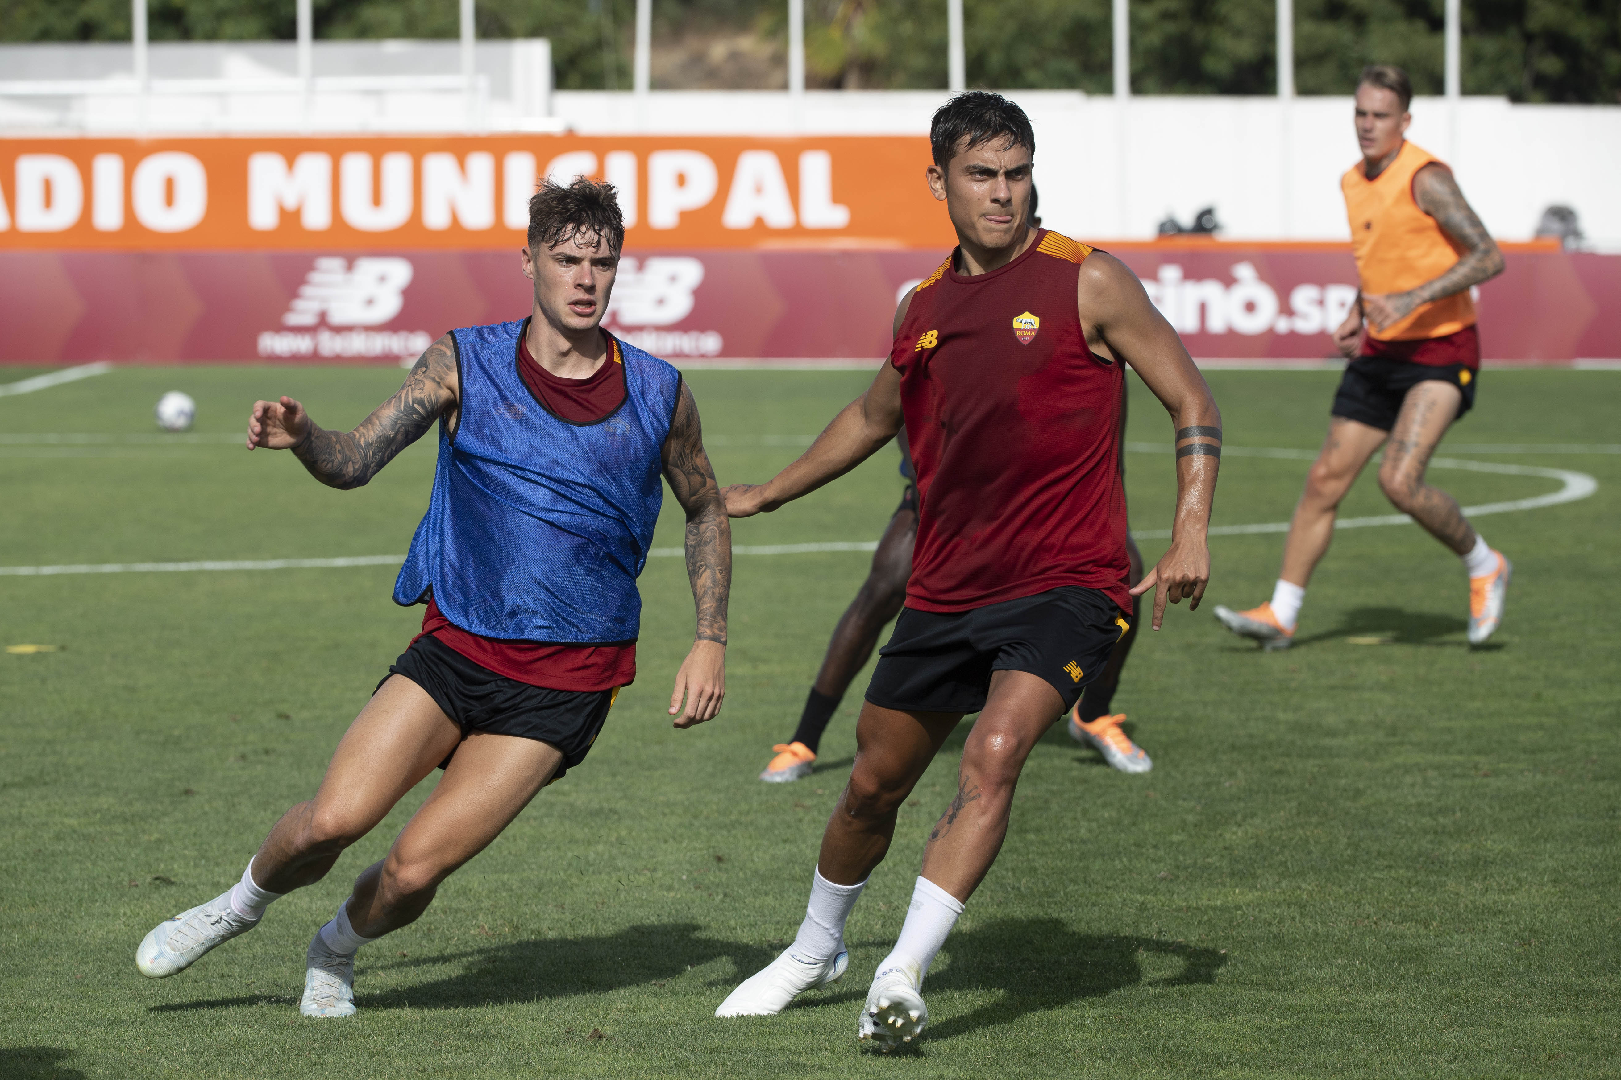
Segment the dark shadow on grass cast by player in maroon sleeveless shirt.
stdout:
<path fill-rule="evenodd" d="M 930 1023 L 929 1041 L 1012 1023 L 1031 1012 L 1060 1009 L 1143 983 L 1143 959 L 1175 957 L 1182 967 L 1151 986 L 1208 986 L 1227 957 L 1185 941 L 1128 934 L 1078 934 L 1055 918 L 1008 918 L 953 934 L 952 963 L 930 975 L 929 989 L 997 989 L 1002 997 Z"/>

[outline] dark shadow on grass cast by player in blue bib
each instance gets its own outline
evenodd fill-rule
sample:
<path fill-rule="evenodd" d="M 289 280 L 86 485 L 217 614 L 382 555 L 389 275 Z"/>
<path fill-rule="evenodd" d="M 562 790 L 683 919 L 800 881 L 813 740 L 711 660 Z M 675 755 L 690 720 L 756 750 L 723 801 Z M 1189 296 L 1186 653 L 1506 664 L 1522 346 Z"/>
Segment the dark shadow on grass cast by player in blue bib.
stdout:
<path fill-rule="evenodd" d="M 752 973 L 765 967 L 776 950 L 704 938 L 695 923 L 660 923 L 629 926 L 598 938 L 532 938 L 412 959 L 394 959 L 387 946 L 383 946 L 374 949 L 373 955 L 376 960 L 368 963 L 368 955 L 360 954 L 355 980 L 355 1004 L 360 1009 L 470 1009 L 543 997 L 601 994 L 627 986 L 665 983 L 720 957 L 731 957 L 738 972 Z M 462 970 L 428 983 L 366 993 L 368 975 L 444 963 L 460 963 Z M 731 981 L 729 975 L 726 981 Z M 263 1001 L 263 996 L 246 996 L 173 1002 L 152 1006 L 151 1012 L 229 1009 L 256 1006 Z"/>

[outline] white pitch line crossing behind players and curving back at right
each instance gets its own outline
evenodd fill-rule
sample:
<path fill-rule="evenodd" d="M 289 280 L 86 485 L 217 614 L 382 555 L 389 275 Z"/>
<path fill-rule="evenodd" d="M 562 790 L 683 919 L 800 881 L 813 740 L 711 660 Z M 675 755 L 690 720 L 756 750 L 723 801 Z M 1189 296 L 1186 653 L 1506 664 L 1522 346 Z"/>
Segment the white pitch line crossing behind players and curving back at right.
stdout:
<path fill-rule="evenodd" d="M 1164 453 L 1170 445 L 1127 444 L 1128 450 Z M 1269 447 L 1227 447 L 1224 453 L 1230 457 L 1269 457 L 1311 460 L 1313 450 L 1289 450 Z M 1459 458 L 1431 458 L 1431 468 L 1469 470 L 1473 473 L 1499 473 L 1506 476 L 1543 476 L 1559 481 L 1559 491 L 1530 499 L 1511 499 L 1506 502 L 1486 502 L 1478 507 L 1464 507 L 1470 518 L 1483 518 L 1491 513 L 1514 513 L 1519 510 L 1540 510 L 1556 507 L 1564 502 L 1587 499 L 1598 491 L 1598 481 L 1587 473 L 1574 470 L 1542 468 L 1537 465 L 1508 465 L 1499 461 L 1464 461 Z M 1337 529 L 1357 529 L 1381 525 L 1409 525 L 1405 513 L 1381 513 L 1370 518 L 1339 518 Z M 1253 533 L 1287 533 L 1289 521 L 1266 521 L 1261 525 L 1217 525 L 1211 528 L 1211 536 L 1248 536 Z M 1170 539 L 1170 529 L 1133 531 L 1136 539 Z M 734 555 L 802 555 L 810 552 L 870 552 L 877 551 L 877 541 L 827 541 L 812 544 L 738 544 L 731 549 Z M 684 555 L 681 547 L 653 547 L 647 552 L 652 559 L 678 559 Z M 63 573 L 177 573 L 193 570 L 313 570 L 327 567 L 381 567 L 397 565 L 405 555 L 350 555 L 345 559 L 251 559 L 251 560 L 209 560 L 209 562 L 104 562 L 73 563 L 60 567 L 0 567 L 0 576 L 55 576 Z"/>

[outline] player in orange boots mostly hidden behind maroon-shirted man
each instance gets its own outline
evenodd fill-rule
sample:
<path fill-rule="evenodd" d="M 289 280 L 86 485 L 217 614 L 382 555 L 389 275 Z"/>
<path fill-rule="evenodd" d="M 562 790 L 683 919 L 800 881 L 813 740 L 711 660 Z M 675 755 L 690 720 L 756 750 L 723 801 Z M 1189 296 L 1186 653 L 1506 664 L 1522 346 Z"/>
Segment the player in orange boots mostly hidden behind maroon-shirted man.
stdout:
<path fill-rule="evenodd" d="M 1041 214 L 1036 207 L 1041 196 L 1036 185 L 1029 188 L 1029 223 L 1041 228 Z M 1120 390 L 1120 431 L 1125 431 L 1125 387 Z M 906 578 L 911 576 L 913 542 L 917 539 L 917 474 L 913 470 L 911 450 L 906 447 L 906 429 L 895 434 L 895 444 L 901 450 L 901 478 L 906 489 L 901 492 L 901 504 L 895 507 L 888 528 L 879 539 L 879 549 L 872 555 L 872 568 L 867 580 L 856 591 L 856 599 L 849 602 L 838 625 L 833 627 L 833 640 L 827 643 L 827 654 L 822 657 L 822 669 L 817 670 L 815 682 L 806 698 L 804 712 L 799 714 L 799 727 L 786 743 L 772 746 L 775 755 L 760 772 L 767 784 L 788 784 L 810 776 L 815 767 L 815 756 L 822 745 L 822 733 L 828 721 L 838 711 L 845 691 L 862 669 L 872 649 L 879 644 L 879 633 L 885 623 L 895 619 L 906 602 Z M 1120 460 L 1122 468 L 1125 458 Z M 1128 585 L 1143 580 L 1143 554 L 1127 529 L 1127 555 L 1131 560 Z M 1114 703 L 1115 688 L 1120 685 L 1120 669 L 1136 641 L 1136 623 L 1141 597 L 1131 597 L 1131 628 L 1115 641 L 1109 654 L 1109 665 L 1096 682 L 1088 683 L 1081 699 L 1070 709 L 1070 738 L 1093 746 L 1104 756 L 1104 761 L 1122 772 L 1148 772 L 1154 767 L 1153 758 L 1141 746 L 1131 742 L 1120 725 L 1125 712 L 1109 712 Z"/>

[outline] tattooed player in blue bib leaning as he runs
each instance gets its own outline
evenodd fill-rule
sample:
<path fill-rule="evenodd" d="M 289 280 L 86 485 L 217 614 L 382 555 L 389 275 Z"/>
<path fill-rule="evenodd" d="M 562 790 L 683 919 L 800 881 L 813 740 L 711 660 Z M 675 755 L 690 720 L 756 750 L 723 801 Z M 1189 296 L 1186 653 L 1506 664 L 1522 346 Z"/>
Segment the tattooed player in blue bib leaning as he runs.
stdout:
<path fill-rule="evenodd" d="M 686 510 L 697 640 L 676 674 L 676 727 L 725 695 L 731 525 L 681 374 L 598 324 L 624 222 L 614 189 L 546 183 L 530 201 L 522 322 L 452 330 L 352 432 L 292 398 L 258 402 L 248 449 L 292 450 L 331 487 L 360 487 L 439 426 L 428 513 L 394 586 L 421 633 L 337 745 L 314 798 L 276 823 L 242 881 L 146 936 L 164 978 L 314 884 L 436 766 L 444 776 L 306 954 L 300 1012 L 355 1012 L 355 950 L 417 920 L 546 784 L 579 766 L 635 675 L 647 560 L 663 489 Z"/>

